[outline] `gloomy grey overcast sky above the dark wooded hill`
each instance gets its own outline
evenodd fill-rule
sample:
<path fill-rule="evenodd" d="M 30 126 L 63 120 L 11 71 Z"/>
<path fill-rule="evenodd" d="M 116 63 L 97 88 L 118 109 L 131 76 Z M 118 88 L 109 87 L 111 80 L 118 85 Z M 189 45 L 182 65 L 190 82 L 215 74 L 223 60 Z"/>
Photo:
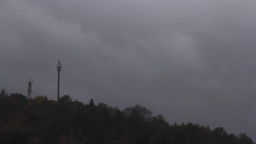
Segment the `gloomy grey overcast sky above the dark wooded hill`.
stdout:
<path fill-rule="evenodd" d="M 256 140 L 256 1 L 0 0 L 0 88 Z"/>

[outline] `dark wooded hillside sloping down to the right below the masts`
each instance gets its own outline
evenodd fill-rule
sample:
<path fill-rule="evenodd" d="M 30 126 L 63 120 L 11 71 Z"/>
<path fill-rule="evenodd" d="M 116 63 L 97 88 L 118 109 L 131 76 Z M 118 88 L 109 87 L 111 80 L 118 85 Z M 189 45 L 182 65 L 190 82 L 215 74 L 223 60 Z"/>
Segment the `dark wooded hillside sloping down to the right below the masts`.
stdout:
<path fill-rule="evenodd" d="M 0 93 L 0 143 L 173 143 L 252 144 L 246 134 L 228 134 L 199 124 L 169 124 L 143 106 L 120 111 L 103 103 L 83 104 L 64 95 L 57 103 L 45 96 Z"/>

